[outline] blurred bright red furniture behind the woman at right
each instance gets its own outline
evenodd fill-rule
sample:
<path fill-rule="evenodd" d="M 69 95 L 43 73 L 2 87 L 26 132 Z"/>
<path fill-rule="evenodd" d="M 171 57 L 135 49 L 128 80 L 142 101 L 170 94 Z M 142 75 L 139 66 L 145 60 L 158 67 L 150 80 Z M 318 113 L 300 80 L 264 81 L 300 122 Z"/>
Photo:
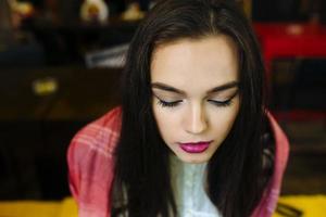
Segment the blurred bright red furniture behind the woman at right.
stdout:
<path fill-rule="evenodd" d="M 272 63 L 283 58 L 326 58 L 326 26 L 319 24 L 255 23 L 272 82 Z M 326 111 L 289 111 L 276 114 L 279 119 L 326 119 Z"/>

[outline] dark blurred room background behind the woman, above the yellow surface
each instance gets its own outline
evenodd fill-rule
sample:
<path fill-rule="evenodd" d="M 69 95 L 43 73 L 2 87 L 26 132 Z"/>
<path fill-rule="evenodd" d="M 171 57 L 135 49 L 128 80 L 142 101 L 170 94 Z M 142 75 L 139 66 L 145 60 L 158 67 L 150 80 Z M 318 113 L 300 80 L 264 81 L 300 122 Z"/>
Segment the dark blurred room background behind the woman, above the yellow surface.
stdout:
<path fill-rule="evenodd" d="M 326 194 L 326 1 L 238 2 L 290 141 L 281 195 Z M 71 195 L 70 140 L 118 105 L 125 52 L 154 3 L 0 0 L 0 202 Z"/>

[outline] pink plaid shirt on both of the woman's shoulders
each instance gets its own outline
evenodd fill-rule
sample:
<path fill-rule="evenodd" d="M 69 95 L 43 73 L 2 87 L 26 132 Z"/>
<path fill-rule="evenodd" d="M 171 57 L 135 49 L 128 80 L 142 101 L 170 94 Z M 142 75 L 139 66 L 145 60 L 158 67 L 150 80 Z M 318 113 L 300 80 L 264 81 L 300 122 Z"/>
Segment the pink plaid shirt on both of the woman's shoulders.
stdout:
<path fill-rule="evenodd" d="M 113 181 L 113 150 L 121 130 L 121 107 L 116 107 L 83 128 L 67 152 L 71 192 L 78 204 L 79 217 L 110 217 Z M 271 217 L 275 210 L 289 143 L 268 114 L 276 141 L 274 175 L 252 217 Z"/>

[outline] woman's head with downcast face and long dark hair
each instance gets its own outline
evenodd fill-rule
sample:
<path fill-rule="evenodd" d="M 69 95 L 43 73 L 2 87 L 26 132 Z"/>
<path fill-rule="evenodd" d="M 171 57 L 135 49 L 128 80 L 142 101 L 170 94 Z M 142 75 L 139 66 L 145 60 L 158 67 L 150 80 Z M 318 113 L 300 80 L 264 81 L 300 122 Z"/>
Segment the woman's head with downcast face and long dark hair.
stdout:
<path fill-rule="evenodd" d="M 254 196 L 246 207 L 239 208 L 243 201 L 235 194 L 241 179 L 259 173 L 264 72 L 255 37 L 235 3 L 159 2 L 136 31 L 124 73 L 116 174 L 129 186 L 131 197 L 136 200 L 141 188 L 152 188 L 155 193 L 146 195 L 146 208 L 164 214 L 168 202 L 173 204 L 167 161 L 173 153 L 185 162 L 208 162 L 209 183 L 225 182 L 224 189 L 209 193 L 225 216 L 250 213 L 255 183 L 248 187 Z M 154 178 L 159 171 L 160 180 Z M 158 192 L 158 186 L 164 190 Z M 239 203 L 227 203 L 230 200 Z"/>

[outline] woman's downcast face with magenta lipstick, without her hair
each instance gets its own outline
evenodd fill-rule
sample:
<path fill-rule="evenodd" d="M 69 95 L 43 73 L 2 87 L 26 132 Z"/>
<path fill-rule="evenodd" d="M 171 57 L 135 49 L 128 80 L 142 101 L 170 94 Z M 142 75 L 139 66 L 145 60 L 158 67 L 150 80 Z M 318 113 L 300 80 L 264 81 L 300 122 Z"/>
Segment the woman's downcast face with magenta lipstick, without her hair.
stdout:
<path fill-rule="evenodd" d="M 208 162 L 239 111 L 238 55 L 224 35 L 159 46 L 151 63 L 152 108 L 161 137 L 184 162 Z"/>

